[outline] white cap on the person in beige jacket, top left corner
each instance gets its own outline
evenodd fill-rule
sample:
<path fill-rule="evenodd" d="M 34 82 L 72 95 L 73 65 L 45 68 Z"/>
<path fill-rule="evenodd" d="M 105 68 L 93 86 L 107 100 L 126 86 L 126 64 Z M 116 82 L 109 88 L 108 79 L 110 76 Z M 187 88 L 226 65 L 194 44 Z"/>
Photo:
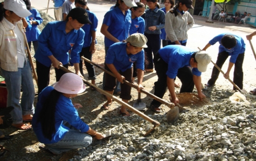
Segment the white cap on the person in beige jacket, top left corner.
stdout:
<path fill-rule="evenodd" d="M 4 9 L 13 11 L 19 17 L 27 17 L 32 14 L 26 9 L 26 5 L 22 0 L 5 0 Z"/>

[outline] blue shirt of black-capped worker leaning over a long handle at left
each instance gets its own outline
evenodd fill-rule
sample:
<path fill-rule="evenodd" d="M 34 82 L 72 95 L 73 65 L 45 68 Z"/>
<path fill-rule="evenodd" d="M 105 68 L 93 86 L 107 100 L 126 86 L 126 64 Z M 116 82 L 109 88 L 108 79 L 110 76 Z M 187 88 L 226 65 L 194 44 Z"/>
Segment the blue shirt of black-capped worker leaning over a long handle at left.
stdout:
<path fill-rule="evenodd" d="M 79 53 L 84 44 L 85 32 L 80 28 L 66 34 L 65 28 L 66 21 L 53 21 L 45 26 L 38 37 L 38 49 L 34 55 L 38 62 L 50 67 L 52 62 L 48 56 L 53 55 L 64 65 L 68 61 L 72 64 L 80 63 Z M 68 56 L 69 50 L 71 60 Z"/>

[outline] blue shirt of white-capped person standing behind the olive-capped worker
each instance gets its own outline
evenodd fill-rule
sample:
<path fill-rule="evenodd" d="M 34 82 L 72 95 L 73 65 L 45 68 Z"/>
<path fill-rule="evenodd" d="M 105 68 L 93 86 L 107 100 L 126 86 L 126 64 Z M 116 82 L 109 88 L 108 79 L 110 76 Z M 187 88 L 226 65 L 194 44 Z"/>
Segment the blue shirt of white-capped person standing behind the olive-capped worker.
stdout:
<path fill-rule="evenodd" d="M 119 41 L 123 41 L 128 38 L 130 24 L 132 23 L 130 10 L 126 11 L 125 13 L 126 14 L 124 15 L 118 7 L 109 10 L 105 14 L 102 23 L 108 26 L 107 31 Z M 115 43 L 114 41 L 106 38 L 106 36 L 104 42 L 106 47 L 110 47 Z"/>

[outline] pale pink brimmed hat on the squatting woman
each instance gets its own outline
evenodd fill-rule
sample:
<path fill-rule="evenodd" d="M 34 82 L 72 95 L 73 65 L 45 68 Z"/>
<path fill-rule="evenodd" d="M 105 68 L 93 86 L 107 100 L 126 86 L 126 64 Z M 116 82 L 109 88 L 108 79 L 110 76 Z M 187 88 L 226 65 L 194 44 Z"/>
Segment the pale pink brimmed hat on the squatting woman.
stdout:
<path fill-rule="evenodd" d="M 66 94 L 79 94 L 86 89 L 82 78 L 71 72 L 61 76 L 59 82 L 54 83 L 52 86 L 56 91 Z"/>

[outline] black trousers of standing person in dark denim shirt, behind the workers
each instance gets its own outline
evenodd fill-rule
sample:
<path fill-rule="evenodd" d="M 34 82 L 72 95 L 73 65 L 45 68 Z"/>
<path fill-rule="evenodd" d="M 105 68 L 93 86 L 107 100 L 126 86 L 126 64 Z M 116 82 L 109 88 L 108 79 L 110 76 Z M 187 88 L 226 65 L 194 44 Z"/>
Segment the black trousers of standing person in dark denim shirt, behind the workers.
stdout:
<path fill-rule="evenodd" d="M 147 37 L 147 48 L 144 48 L 144 52 L 146 55 L 147 61 L 145 62 L 145 69 L 153 69 L 153 55 L 155 56 L 156 52 L 161 48 L 161 39 L 160 34 L 146 34 L 144 35 Z"/>

